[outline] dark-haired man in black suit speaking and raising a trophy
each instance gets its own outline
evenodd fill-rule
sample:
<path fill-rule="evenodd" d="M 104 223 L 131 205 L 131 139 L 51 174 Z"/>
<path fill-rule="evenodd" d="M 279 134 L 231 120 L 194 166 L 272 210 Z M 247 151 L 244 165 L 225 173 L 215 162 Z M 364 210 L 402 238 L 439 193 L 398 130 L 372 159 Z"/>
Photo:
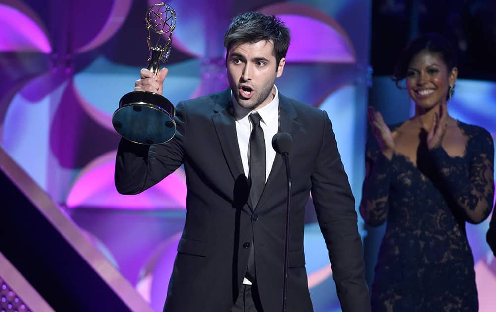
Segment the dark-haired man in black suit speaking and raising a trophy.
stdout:
<path fill-rule="evenodd" d="M 229 89 L 180 102 L 169 142 L 119 144 L 115 178 L 123 194 L 142 192 L 184 164 L 186 223 L 164 311 L 281 311 L 287 186 L 283 160 L 271 147 L 281 132 L 294 141 L 287 311 L 313 310 L 303 251 L 310 191 L 341 307 L 370 311 L 354 198 L 331 122 L 274 85 L 288 29 L 274 16 L 244 13 L 233 19 L 224 45 Z M 157 76 L 143 69 L 135 90 L 162 93 L 166 75 L 167 69 Z"/>

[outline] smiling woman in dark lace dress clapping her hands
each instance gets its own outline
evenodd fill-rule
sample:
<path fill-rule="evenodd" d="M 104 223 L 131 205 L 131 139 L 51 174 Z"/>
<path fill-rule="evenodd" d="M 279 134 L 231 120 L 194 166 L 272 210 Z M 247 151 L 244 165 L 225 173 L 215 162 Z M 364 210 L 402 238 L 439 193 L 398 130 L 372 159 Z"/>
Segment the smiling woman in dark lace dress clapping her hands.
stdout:
<path fill-rule="evenodd" d="M 447 101 L 458 69 L 440 35 L 412 41 L 395 72 L 405 79 L 415 115 L 386 126 L 369 109 L 376 140 L 366 151 L 360 213 L 387 221 L 372 285 L 372 311 L 477 311 L 474 260 L 465 222 L 493 206 L 493 140 L 452 118 Z"/>

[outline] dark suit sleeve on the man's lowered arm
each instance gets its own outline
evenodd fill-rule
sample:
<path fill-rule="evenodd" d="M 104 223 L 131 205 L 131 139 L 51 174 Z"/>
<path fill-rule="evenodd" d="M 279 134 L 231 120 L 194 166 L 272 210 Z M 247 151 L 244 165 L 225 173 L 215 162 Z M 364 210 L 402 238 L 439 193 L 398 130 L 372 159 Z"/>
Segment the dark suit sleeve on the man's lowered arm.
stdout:
<path fill-rule="evenodd" d="M 311 193 L 332 264 L 343 312 L 370 311 L 355 200 L 339 155 L 331 121 L 323 112 L 322 144 Z"/>

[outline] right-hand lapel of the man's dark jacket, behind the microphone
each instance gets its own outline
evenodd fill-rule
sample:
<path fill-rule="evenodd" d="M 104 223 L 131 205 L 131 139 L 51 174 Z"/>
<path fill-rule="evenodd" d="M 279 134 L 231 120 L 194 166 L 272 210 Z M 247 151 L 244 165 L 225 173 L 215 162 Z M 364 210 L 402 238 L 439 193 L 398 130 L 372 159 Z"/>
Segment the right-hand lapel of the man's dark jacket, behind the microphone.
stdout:
<path fill-rule="evenodd" d="M 300 123 L 297 120 L 296 111 L 290 100 L 279 93 L 279 130 L 278 133 L 287 132 L 292 138 L 295 137 L 296 132 L 300 128 Z M 291 158 L 291 154 L 290 154 Z M 270 194 L 273 192 L 280 192 L 278 189 L 279 183 L 276 183 L 278 179 L 283 178 L 286 180 L 286 169 L 284 167 L 284 161 L 282 156 L 276 154 L 274 163 L 272 164 L 272 169 L 270 170 L 267 183 L 265 184 L 265 189 L 258 201 L 258 206 L 263 207 L 265 202 L 270 198 Z M 280 188 L 280 187 L 279 187 Z M 285 190 L 284 190 L 285 191 Z"/>

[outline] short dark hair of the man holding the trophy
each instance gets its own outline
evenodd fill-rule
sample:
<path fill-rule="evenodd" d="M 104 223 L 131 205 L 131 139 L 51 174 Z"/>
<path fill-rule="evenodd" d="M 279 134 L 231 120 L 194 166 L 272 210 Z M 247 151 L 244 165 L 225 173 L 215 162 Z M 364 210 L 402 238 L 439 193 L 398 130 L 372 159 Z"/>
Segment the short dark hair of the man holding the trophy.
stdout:
<path fill-rule="evenodd" d="M 276 57 L 276 70 L 279 62 L 288 52 L 290 34 L 283 21 L 275 15 L 268 16 L 259 12 L 242 13 L 233 18 L 224 35 L 227 55 L 232 47 L 260 40 L 272 41 Z"/>

